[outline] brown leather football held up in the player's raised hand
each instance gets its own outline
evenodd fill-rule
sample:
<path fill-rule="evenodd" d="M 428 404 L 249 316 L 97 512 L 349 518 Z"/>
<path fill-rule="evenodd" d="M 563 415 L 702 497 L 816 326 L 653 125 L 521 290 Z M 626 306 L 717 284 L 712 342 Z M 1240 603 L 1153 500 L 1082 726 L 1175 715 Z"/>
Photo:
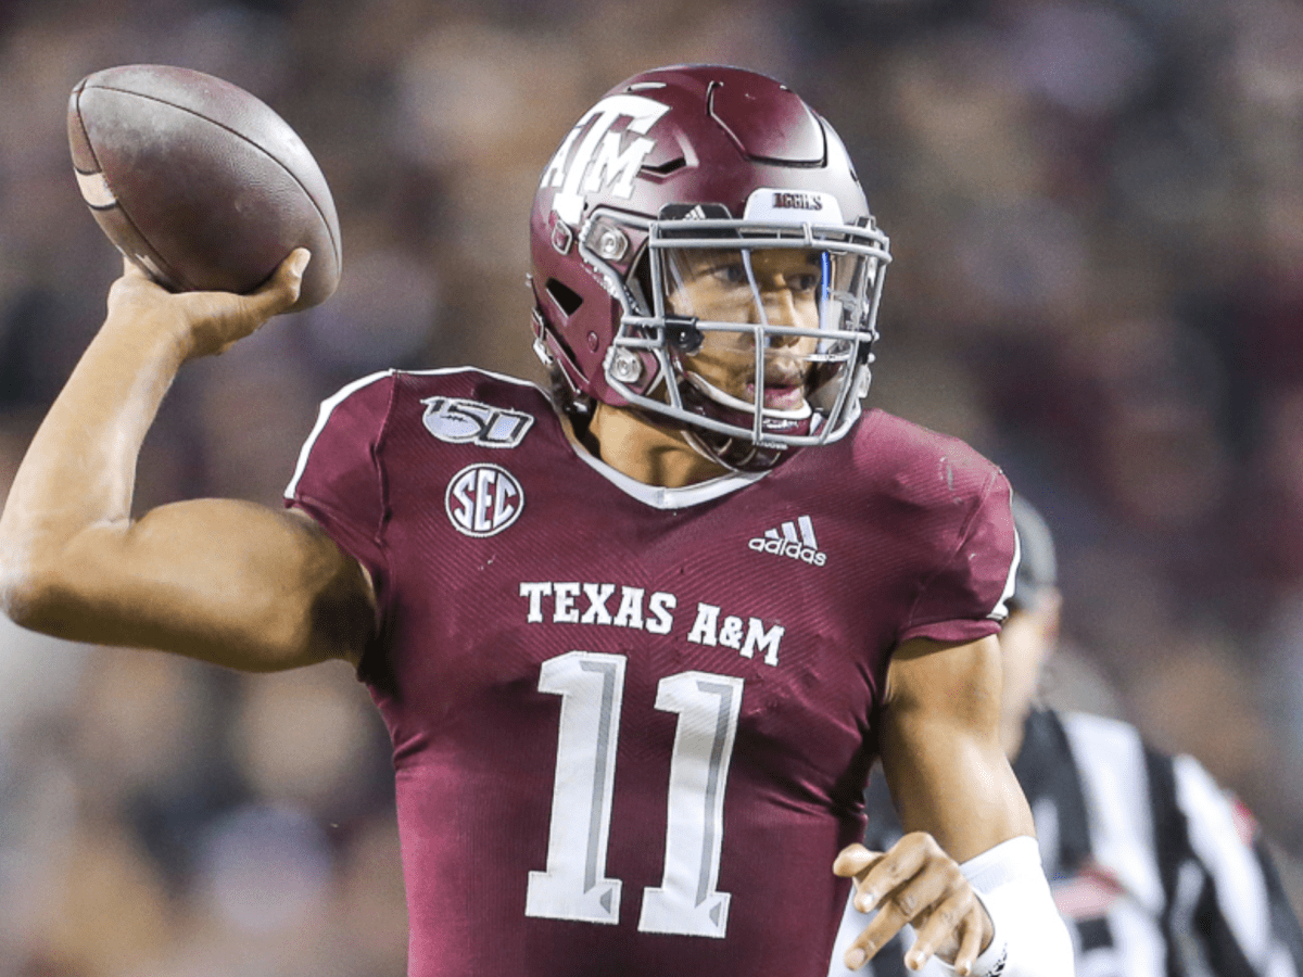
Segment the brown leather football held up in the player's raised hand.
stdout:
<path fill-rule="evenodd" d="M 294 130 L 244 89 L 185 68 L 108 68 L 73 89 L 68 142 L 100 228 L 165 288 L 250 292 L 300 245 L 313 259 L 291 311 L 339 284 L 326 177 Z"/>

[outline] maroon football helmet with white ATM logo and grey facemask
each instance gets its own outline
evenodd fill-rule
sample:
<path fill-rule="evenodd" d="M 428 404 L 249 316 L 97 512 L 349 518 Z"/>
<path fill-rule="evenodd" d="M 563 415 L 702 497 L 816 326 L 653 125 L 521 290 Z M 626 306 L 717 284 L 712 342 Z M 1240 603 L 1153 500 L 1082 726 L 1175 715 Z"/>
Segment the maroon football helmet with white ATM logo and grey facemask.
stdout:
<path fill-rule="evenodd" d="M 735 469 L 860 413 L 887 238 L 837 133 L 773 78 L 684 65 L 614 87 L 543 171 L 530 250 L 534 348 L 580 404 Z"/>

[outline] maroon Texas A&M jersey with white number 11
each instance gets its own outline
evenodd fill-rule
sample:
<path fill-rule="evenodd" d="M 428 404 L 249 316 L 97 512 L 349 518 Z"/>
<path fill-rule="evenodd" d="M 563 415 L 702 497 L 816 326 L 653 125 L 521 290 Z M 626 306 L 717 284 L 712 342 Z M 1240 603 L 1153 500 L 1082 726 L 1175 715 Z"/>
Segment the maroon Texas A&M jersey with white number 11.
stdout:
<path fill-rule="evenodd" d="M 891 649 L 1015 563 L 999 470 L 890 414 L 666 490 L 474 370 L 341 391 L 287 496 L 375 582 L 413 977 L 822 977 Z"/>

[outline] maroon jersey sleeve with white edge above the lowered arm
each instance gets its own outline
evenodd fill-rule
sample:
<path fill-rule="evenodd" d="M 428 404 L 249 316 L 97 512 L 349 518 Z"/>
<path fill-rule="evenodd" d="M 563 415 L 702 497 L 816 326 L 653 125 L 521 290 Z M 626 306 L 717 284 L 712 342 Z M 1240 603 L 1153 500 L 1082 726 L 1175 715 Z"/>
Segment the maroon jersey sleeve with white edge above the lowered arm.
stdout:
<path fill-rule="evenodd" d="M 976 641 L 999 630 L 1018 572 L 1011 499 L 1009 479 L 992 469 L 954 531 L 955 545 L 924 580 L 900 641 Z"/>

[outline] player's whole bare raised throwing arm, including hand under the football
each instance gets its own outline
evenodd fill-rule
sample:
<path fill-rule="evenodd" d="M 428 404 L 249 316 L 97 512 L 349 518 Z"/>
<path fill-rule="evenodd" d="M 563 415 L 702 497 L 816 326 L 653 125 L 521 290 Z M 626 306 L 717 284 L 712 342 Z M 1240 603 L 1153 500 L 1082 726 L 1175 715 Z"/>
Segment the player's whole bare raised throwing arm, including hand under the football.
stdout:
<path fill-rule="evenodd" d="M 218 499 L 132 518 L 141 444 L 176 371 L 289 307 L 306 257 L 249 296 L 171 294 L 126 266 L 0 516 L 0 604 L 13 620 L 250 671 L 357 659 L 370 584 L 310 520 Z"/>

